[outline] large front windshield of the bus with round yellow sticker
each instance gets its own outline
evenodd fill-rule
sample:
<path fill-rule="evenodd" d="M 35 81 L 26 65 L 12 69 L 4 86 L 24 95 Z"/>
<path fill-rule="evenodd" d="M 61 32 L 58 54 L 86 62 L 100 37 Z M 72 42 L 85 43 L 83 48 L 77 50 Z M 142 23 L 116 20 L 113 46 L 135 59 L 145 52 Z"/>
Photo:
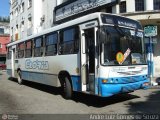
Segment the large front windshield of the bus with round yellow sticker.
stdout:
<path fill-rule="evenodd" d="M 146 64 L 142 31 L 107 25 L 100 31 L 102 65 Z"/>

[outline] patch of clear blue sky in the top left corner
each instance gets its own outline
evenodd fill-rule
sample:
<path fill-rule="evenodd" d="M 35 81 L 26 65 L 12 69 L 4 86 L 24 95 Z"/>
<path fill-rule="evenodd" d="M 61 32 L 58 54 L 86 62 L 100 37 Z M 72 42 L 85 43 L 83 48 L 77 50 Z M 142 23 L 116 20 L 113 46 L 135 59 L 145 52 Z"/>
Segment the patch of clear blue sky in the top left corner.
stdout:
<path fill-rule="evenodd" d="M 0 16 L 9 16 L 9 0 L 0 0 Z"/>

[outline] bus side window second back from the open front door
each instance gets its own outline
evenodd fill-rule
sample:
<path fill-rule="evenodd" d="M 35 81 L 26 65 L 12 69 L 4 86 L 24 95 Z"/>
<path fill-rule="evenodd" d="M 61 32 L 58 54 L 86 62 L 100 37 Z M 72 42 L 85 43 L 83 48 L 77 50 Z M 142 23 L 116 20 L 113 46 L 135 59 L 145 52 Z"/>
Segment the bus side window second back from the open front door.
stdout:
<path fill-rule="evenodd" d="M 52 56 L 57 54 L 57 41 L 58 35 L 57 33 L 51 33 L 46 35 L 45 38 L 45 55 Z"/>

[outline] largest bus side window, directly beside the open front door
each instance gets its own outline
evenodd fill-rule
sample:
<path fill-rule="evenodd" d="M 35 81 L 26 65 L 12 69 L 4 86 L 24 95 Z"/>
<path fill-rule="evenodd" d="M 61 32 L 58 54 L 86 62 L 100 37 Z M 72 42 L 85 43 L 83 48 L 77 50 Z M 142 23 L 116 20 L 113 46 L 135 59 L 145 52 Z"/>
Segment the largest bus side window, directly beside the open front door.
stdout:
<path fill-rule="evenodd" d="M 78 28 L 71 28 L 60 32 L 59 54 L 76 54 L 79 51 Z"/>

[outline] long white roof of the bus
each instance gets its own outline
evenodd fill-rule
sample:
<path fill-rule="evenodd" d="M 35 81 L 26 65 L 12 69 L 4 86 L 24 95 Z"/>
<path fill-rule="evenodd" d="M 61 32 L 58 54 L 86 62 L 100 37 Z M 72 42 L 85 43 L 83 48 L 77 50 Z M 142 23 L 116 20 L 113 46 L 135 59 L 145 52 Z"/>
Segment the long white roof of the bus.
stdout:
<path fill-rule="evenodd" d="M 26 40 L 31 40 L 33 38 L 36 38 L 38 36 L 41 36 L 41 35 L 45 35 L 47 33 L 50 33 L 50 32 L 54 32 L 54 31 L 58 31 L 58 30 L 61 30 L 63 28 L 67 28 L 67 27 L 71 27 L 71 26 L 74 26 L 74 25 L 77 25 L 77 24 L 80 24 L 80 23 L 83 23 L 85 21 L 90 21 L 90 20 L 94 20 L 94 19 L 98 19 L 100 18 L 101 14 L 106 14 L 106 15 L 111 15 L 111 16 L 119 16 L 119 17 L 122 17 L 122 18 L 126 18 L 126 17 L 123 17 L 123 16 L 120 16 L 120 15 L 115 15 L 115 14 L 110 14 L 110 13 L 103 13 L 103 12 L 96 12 L 96 13 L 92 13 L 92 14 L 88 14 L 88 15 L 85 15 L 83 17 L 79 17 L 77 19 L 74 19 L 74 20 L 71 20 L 69 22 L 65 22 L 63 24 L 60 24 L 60 25 L 55 25 L 51 28 L 48 28 L 46 30 L 43 30 L 42 32 L 40 33 L 37 33 L 37 34 L 34 34 L 34 35 L 31 35 L 31 36 L 28 36 L 24 39 L 21 39 L 21 40 L 18 40 L 18 41 L 14 41 L 14 42 L 11 42 L 7 45 L 7 47 L 9 46 L 13 46 L 13 45 L 16 45 L 18 43 L 21 43 L 21 42 L 25 42 Z M 128 18 L 129 19 L 129 18 Z M 83 22 L 82 22 L 83 21 Z M 135 20 L 135 22 L 138 22 Z"/>

